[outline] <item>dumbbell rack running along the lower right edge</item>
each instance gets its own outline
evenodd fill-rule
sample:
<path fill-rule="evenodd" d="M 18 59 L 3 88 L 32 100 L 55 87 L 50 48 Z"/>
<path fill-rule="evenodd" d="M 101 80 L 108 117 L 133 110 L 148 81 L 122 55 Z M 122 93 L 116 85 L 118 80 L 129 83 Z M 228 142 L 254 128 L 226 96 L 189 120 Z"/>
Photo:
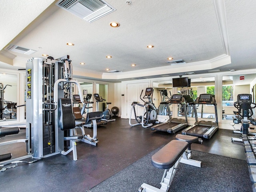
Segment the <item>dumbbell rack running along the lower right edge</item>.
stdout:
<path fill-rule="evenodd" d="M 246 161 L 252 181 L 252 190 L 256 191 L 256 136 L 247 136 L 242 134 L 242 141 L 244 144 L 244 151 L 246 153 Z"/>

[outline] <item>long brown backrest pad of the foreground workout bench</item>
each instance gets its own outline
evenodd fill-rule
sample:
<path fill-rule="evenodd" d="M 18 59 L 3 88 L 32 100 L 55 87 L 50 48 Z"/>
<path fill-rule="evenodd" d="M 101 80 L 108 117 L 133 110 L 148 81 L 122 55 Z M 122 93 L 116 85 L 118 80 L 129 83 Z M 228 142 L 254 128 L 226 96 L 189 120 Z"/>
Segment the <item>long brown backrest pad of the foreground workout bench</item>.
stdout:
<path fill-rule="evenodd" d="M 188 145 L 188 142 L 185 141 L 172 140 L 152 156 L 151 164 L 159 169 L 171 168 L 188 148 Z"/>

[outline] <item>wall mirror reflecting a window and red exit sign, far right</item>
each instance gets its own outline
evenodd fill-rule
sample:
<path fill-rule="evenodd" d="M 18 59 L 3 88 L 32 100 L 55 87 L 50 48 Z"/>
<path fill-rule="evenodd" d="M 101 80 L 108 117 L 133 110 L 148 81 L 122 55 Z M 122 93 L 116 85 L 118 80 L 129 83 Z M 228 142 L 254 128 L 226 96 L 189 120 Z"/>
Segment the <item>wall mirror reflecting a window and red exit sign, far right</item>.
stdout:
<path fill-rule="evenodd" d="M 255 79 L 256 74 L 222 76 L 222 120 L 233 120 L 236 116 L 234 102 L 238 94 L 252 94 L 252 102 L 255 101 L 255 85 L 250 88 Z"/>

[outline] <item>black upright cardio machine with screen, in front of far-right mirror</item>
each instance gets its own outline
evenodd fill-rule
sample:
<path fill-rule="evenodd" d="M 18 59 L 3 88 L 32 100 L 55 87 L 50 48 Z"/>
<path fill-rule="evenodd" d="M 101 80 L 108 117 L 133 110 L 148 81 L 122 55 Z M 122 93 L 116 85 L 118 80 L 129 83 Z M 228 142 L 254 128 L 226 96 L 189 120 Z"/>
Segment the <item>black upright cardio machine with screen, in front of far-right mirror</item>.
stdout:
<path fill-rule="evenodd" d="M 256 104 L 252 102 L 251 94 L 238 94 L 237 102 L 234 102 L 234 107 L 238 109 L 238 115 L 240 116 L 241 129 L 240 132 L 242 134 L 248 135 L 250 123 L 255 124 L 255 120 L 250 119 L 253 115 L 253 108 L 256 108 Z M 239 122 L 237 119 L 234 119 L 234 122 Z M 235 132 L 235 131 L 234 131 Z M 232 141 L 240 141 L 242 142 L 242 138 L 231 138 Z"/>

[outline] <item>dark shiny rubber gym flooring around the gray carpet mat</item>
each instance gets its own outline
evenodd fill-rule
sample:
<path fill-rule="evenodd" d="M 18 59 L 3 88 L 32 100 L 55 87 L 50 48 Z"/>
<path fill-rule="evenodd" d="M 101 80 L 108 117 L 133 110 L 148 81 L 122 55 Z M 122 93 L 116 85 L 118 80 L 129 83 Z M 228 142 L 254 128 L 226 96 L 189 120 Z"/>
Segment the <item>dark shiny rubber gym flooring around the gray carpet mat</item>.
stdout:
<path fill-rule="evenodd" d="M 71 152 L 32 164 L 19 163 L 15 168 L 0 172 L 1 191 L 86 191 L 181 133 L 130 127 L 128 121 L 117 118 L 116 122 L 98 127 L 98 146 L 77 142 L 77 161 L 73 160 Z M 92 136 L 92 128 L 85 128 L 85 133 Z M 192 150 L 245 160 L 243 144 L 231 141 L 231 137 L 239 136 L 232 130 L 219 129 L 210 140 L 203 139 L 203 144 L 192 144 Z M 3 137 L 0 142 L 25 137 L 25 130 L 21 130 L 18 135 Z M 26 154 L 25 145 L 1 146 L 0 154 L 6 152 L 12 152 L 13 156 Z"/>

